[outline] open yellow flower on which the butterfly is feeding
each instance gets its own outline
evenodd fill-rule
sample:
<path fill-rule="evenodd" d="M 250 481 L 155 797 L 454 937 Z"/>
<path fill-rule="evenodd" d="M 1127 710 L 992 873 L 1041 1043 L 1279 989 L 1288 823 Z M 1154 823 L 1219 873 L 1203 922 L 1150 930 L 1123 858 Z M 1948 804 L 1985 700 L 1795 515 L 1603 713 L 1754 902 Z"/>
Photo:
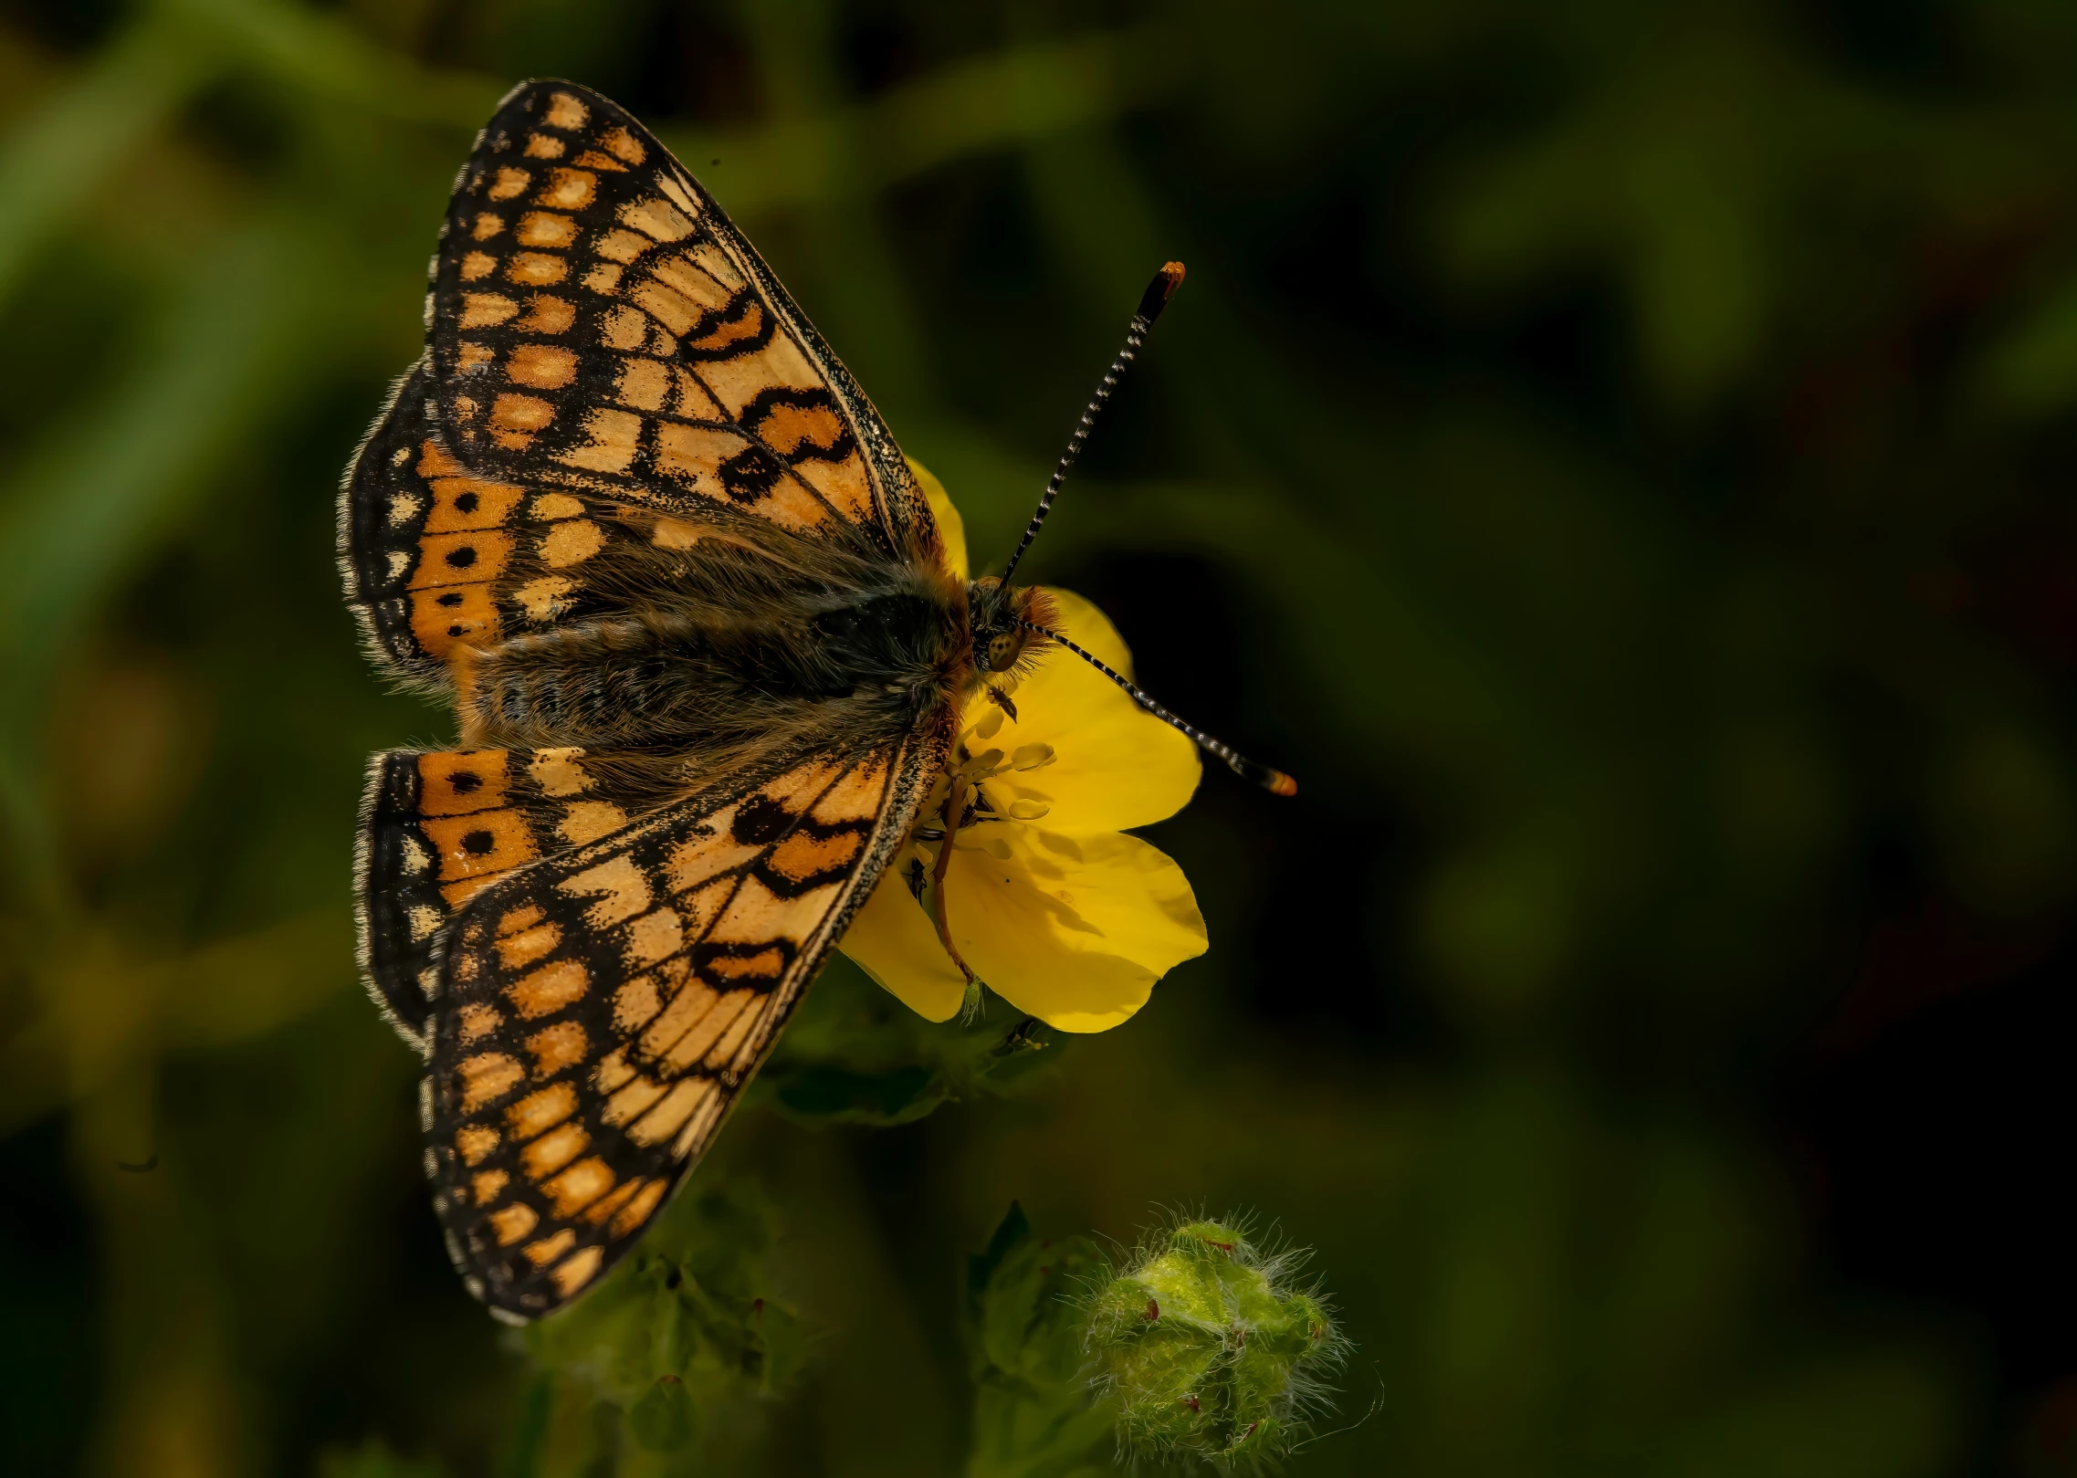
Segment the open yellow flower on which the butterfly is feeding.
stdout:
<path fill-rule="evenodd" d="M 960 515 L 937 477 L 916 475 L 964 579 Z M 1047 594 L 1061 635 L 1132 673 L 1101 610 L 1066 590 Z M 966 1001 L 966 976 L 939 942 L 941 907 L 989 990 L 1063 1032 L 1103 1032 L 1147 1005 L 1174 965 L 1205 953 L 1205 918 L 1182 868 L 1122 834 L 1182 810 L 1201 774 L 1196 745 L 1061 648 L 1018 683 L 1016 710 L 968 704 L 916 837 L 839 947 L 916 1013 L 945 1021 Z M 953 787 L 970 797 L 968 824 L 945 839 Z M 933 886 L 947 843 L 943 884 Z"/>

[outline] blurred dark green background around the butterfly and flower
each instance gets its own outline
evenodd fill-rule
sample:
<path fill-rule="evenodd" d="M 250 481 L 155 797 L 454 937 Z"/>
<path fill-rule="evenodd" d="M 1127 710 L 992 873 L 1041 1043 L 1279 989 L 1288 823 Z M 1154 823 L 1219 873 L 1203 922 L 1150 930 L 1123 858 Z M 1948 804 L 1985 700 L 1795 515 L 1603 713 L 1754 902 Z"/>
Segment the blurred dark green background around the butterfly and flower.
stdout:
<path fill-rule="evenodd" d="M 1209 957 L 1016 1096 L 731 1125 L 816 1333 L 717 1472 L 962 1472 L 1011 1198 L 1315 1246 L 1369 1420 L 1292 1472 L 2077 1472 L 2077 10 L 6 0 L 8 1474 L 530 1470 L 351 959 L 363 756 L 449 720 L 332 569 L 528 75 L 980 567 L 1188 262 L 1024 571 L 1304 787 L 1207 774 Z"/>

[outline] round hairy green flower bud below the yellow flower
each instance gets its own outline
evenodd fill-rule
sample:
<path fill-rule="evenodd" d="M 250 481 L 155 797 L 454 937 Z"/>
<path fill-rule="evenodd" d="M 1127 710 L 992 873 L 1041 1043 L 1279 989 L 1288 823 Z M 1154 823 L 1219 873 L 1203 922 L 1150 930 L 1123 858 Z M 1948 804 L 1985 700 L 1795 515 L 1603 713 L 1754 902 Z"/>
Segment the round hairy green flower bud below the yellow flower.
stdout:
<path fill-rule="evenodd" d="M 1325 1407 L 1346 1341 L 1302 1252 L 1259 1252 L 1246 1225 L 1188 1221 L 1111 1268 L 1088 1302 L 1090 1378 L 1130 1455 L 1225 1463 L 1290 1449 Z"/>

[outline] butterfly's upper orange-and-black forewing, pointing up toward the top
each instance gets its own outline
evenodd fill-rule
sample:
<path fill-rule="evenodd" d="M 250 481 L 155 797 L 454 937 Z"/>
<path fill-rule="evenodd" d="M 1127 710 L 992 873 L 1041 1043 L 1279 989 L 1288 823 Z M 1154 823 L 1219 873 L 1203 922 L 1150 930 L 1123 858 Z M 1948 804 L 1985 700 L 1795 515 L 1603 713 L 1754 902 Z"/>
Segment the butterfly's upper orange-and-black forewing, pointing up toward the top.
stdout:
<path fill-rule="evenodd" d="M 889 554 L 933 536 L 879 413 L 756 251 L 573 83 L 523 83 L 478 139 L 428 353 L 469 465 Z"/>

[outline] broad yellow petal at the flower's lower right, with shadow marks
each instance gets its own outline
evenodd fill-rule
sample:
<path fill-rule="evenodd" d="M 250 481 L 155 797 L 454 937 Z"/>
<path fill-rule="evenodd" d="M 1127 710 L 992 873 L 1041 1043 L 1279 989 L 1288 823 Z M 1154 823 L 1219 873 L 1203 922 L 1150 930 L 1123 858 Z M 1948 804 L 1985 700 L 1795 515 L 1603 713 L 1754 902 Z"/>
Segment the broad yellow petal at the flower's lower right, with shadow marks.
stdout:
<path fill-rule="evenodd" d="M 953 851 L 945 907 L 966 963 L 1018 1011 L 1103 1032 L 1147 1005 L 1169 967 L 1205 953 L 1190 880 L 1157 847 L 1036 826 L 1003 837 L 1007 861 Z"/>

